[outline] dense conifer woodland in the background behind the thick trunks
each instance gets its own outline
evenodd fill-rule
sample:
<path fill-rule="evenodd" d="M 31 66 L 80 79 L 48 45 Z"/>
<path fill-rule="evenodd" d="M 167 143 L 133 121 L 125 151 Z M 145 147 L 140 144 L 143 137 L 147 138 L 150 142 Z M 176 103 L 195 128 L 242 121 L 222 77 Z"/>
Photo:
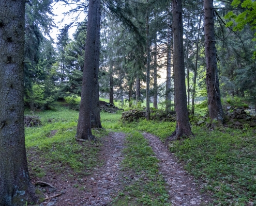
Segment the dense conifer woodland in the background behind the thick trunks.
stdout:
<path fill-rule="evenodd" d="M 47 108 L 56 99 L 70 99 L 81 95 L 87 18 L 83 22 L 72 20 L 59 30 L 57 42 L 54 42 L 49 38 L 51 28 L 54 27 L 51 4 L 51 1 L 32 1 L 26 4 L 25 102 L 31 110 Z M 70 12 L 86 13 L 87 2 L 78 1 L 76 4 L 78 6 Z M 202 4 L 183 2 L 189 109 L 194 102 L 199 104 L 207 99 Z M 149 58 L 149 100 L 154 102 L 154 108 L 160 106 L 174 110 L 175 74 L 170 5 L 169 1 L 117 1 L 113 5 L 102 2 L 99 65 L 101 97 L 110 98 L 111 103 L 121 101 L 122 105 L 129 102 L 129 107 L 140 106 L 146 100 L 146 70 Z M 234 7 L 231 2 L 223 1 L 216 1 L 214 6 L 214 32 L 222 102 L 239 97 L 245 102 L 242 106 L 254 109 L 254 31 L 250 22 L 238 28 L 234 27 L 237 25 L 234 21 L 235 15 L 243 14 L 248 8 L 243 5 Z M 230 20 L 234 21 L 233 25 Z M 68 29 L 73 25 L 78 27 L 70 37 Z M 167 72 L 168 69 L 171 72 Z"/>

